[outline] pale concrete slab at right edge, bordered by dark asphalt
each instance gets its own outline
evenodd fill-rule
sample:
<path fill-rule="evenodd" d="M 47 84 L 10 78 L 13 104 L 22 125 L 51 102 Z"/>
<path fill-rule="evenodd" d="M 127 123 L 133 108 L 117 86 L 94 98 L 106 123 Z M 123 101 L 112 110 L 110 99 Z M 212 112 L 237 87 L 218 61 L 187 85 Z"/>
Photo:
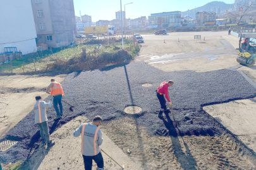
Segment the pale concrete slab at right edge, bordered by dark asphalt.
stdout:
<path fill-rule="evenodd" d="M 250 99 L 236 100 L 219 105 L 204 106 L 203 109 L 256 152 L 256 103 L 254 101 Z"/>

